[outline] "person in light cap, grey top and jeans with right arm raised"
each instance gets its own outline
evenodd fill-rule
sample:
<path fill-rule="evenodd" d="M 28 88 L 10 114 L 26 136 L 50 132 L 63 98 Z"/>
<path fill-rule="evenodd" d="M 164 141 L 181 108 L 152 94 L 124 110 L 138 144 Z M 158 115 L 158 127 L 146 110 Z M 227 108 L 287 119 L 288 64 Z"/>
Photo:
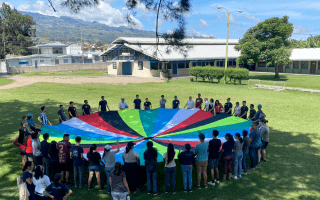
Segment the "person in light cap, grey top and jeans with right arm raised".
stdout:
<path fill-rule="evenodd" d="M 104 171 L 106 172 L 106 179 L 107 179 L 106 184 L 107 184 L 108 193 L 111 193 L 110 174 L 111 172 L 113 172 L 114 165 L 116 164 L 115 155 L 120 151 L 119 141 L 117 141 L 117 146 L 118 146 L 118 149 L 116 151 L 111 151 L 112 146 L 107 144 L 104 147 L 104 152 L 102 155 L 102 160 L 105 163 Z"/>

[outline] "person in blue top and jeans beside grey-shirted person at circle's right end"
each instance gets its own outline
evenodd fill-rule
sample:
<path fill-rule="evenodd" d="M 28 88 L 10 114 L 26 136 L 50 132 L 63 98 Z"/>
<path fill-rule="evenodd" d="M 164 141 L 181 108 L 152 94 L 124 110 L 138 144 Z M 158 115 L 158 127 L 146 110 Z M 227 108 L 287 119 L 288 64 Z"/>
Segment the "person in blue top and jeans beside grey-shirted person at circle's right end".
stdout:
<path fill-rule="evenodd" d="M 260 132 L 258 130 L 258 122 L 253 122 L 251 125 L 252 131 L 250 132 L 250 146 L 249 146 L 249 156 L 251 160 L 251 169 L 255 169 L 258 166 L 258 151 L 260 149 L 259 139 Z"/>

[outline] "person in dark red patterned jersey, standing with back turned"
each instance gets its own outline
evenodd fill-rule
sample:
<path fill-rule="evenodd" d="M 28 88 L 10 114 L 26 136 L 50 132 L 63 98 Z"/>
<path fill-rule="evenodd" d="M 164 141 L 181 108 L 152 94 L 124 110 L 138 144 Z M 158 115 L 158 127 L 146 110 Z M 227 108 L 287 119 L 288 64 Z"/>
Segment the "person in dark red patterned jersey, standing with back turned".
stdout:
<path fill-rule="evenodd" d="M 58 143 L 58 151 L 59 151 L 59 162 L 60 169 L 62 174 L 62 182 L 65 182 L 68 185 L 69 183 L 69 172 L 72 170 L 72 165 L 70 162 L 70 151 L 71 151 L 71 143 L 69 142 L 69 134 L 63 135 L 63 140 Z"/>

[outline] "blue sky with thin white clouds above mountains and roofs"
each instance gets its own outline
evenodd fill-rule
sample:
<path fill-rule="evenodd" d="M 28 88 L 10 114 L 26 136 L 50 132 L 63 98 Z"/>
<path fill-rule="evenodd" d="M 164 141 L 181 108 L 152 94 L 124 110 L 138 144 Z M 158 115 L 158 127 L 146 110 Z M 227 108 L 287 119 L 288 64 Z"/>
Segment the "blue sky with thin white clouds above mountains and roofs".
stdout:
<path fill-rule="evenodd" d="M 60 6 L 63 0 L 52 0 L 58 12 L 49 6 L 48 0 L 0 0 L 21 11 L 36 12 L 50 16 L 68 16 L 84 21 L 97 21 L 110 26 L 128 26 L 125 16 L 128 12 L 126 0 L 102 0 L 97 7 L 85 8 L 74 14 Z M 319 0 L 190 0 L 191 12 L 186 15 L 186 30 L 189 36 L 214 38 L 227 37 L 227 11 L 230 16 L 229 38 L 242 38 L 248 28 L 272 17 L 289 16 L 293 23 L 293 39 L 305 40 L 310 35 L 320 35 L 320 1 Z M 219 10 L 221 6 L 226 10 Z M 237 12 L 242 10 L 242 13 Z M 136 26 L 142 30 L 155 30 L 156 14 L 148 11 L 141 3 L 138 4 L 134 16 Z M 175 23 L 167 22 L 160 16 L 161 32 L 176 27 Z"/>

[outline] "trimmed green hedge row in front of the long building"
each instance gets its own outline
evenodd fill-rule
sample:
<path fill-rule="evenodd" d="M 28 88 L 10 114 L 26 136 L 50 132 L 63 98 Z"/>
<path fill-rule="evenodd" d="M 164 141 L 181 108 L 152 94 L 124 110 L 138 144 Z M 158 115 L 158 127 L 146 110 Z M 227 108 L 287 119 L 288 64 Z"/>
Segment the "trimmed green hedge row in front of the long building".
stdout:
<path fill-rule="evenodd" d="M 225 76 L 226 78 L 230 79 L 230 82 L 236 82 L 236 80 L 239 81 L 241 84 L 241 80 L 245 79 L 249 76 L 249 70 L 245 68 L 228 68 L 225 70 L 221 67 L 192 67 L 189 69 L 190 75 L 195 76 L 196 80 L 198 78 L 202 78 L 203 81 L 205 81 L 206 78 L 209 79 L 209 81 L 213 81 L 213 79 L 217 79 L 218 82 L 221 81 L 221 79 Z"/>

